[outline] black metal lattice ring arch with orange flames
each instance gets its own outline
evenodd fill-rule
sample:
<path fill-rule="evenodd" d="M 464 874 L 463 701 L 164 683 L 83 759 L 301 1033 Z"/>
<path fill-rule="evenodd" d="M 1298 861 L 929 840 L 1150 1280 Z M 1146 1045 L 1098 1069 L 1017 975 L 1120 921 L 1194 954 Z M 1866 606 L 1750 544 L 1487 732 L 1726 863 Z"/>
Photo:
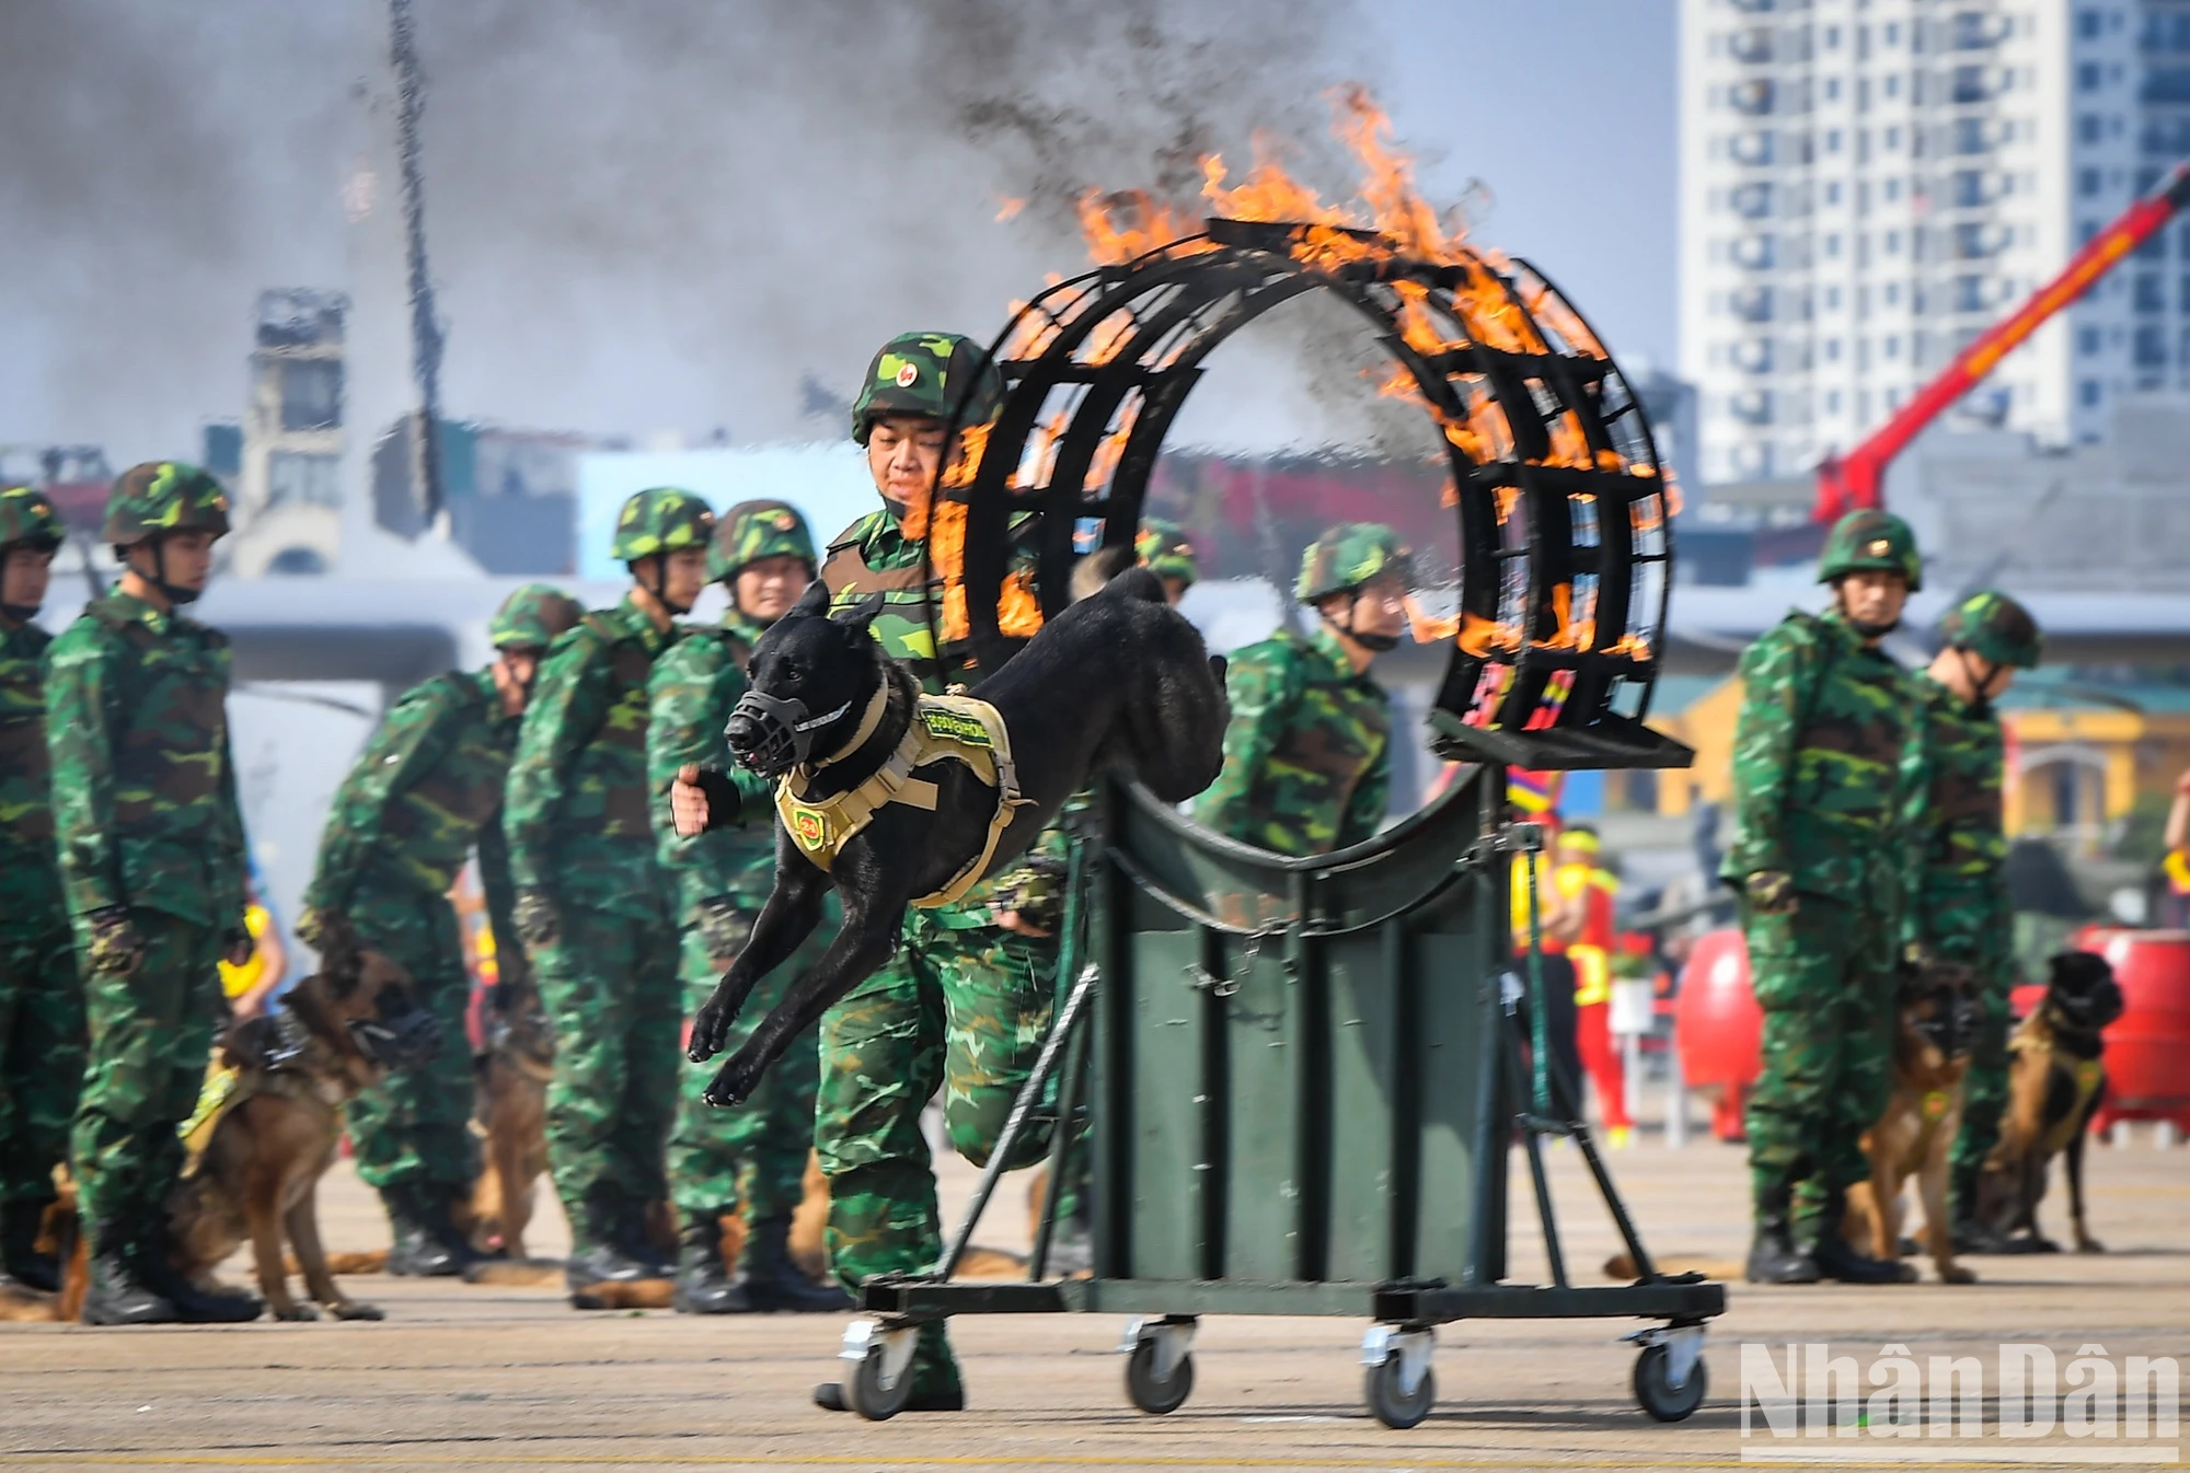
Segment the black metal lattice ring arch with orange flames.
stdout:
<path fill-rule="evenodd" d="M 1535 768 L 1686 764 L 1642 727 L 1678 492 L 1612 355 L 1526 263 L 1467 245 L 1408 256 L 1340 225 L 1211 219 L 1204 234 L 1058 282 L 1014 315 L 994 348 L 1010 394 L 957 477 L 964 633 L 981 665 L 994 670 L 1031 633 L 1010 617 L 1012 523 L 1038 519 L 1031 584 L 1053 615 L 1086 519 L 1102 521 L 1104 545 L 1132 541 L 1202 359 L 1307 291 L 1336 293 L 1369 322 L 1397 366 L 1384 392 L 1443 431 L 1461 589 L 1439 630 L 1452 646 L 1432 714 L 1439 753 Z"/>

